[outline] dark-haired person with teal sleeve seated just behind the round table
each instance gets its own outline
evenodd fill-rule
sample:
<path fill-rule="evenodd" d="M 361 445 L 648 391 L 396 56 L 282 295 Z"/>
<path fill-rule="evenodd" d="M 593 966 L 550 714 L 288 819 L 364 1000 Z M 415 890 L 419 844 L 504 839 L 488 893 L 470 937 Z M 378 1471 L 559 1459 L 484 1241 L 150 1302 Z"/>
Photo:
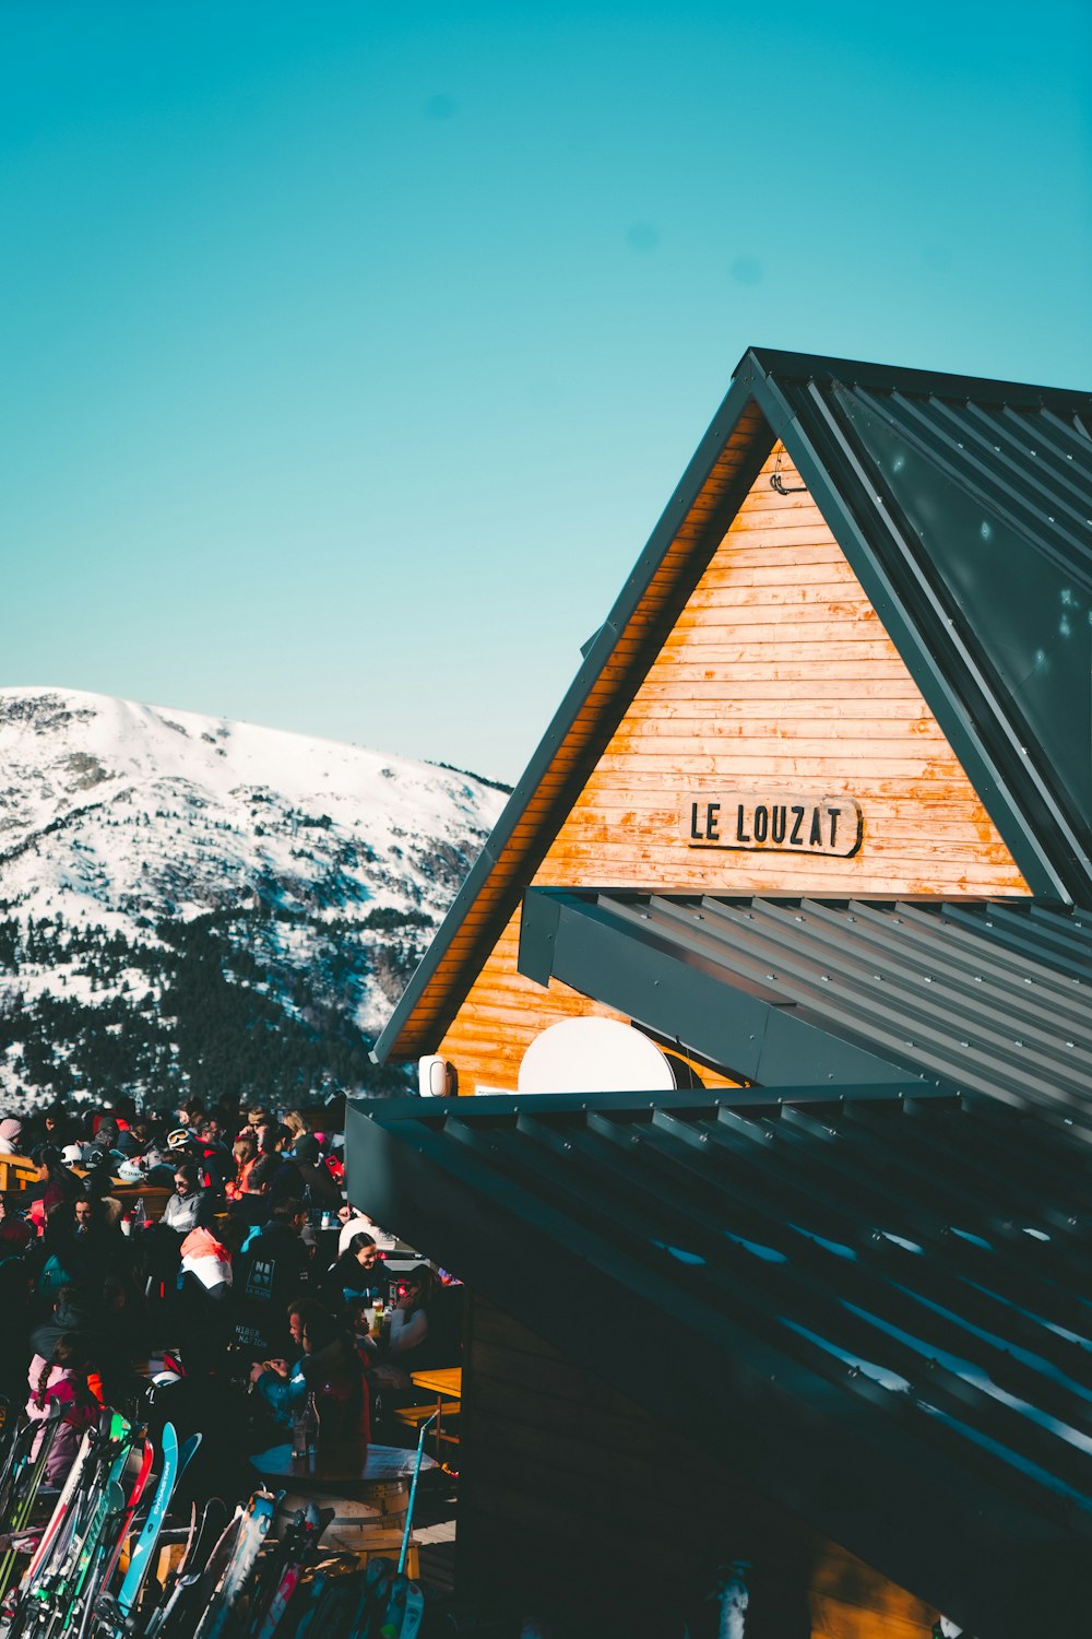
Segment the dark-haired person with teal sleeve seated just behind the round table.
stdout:
<path fill-rule="evenodd" d="M 295 1411 L 303 1411 L 308 1395 L 314 1395 L 319 1414 L 319 1439 L 324 1446 L 345 1442 L 368 1444 L 368 1387 L 352 1339 L 319 1305 L 293 1305 L 290 1323 L 301 1329 L 301 1355 L 265 1360 L 250 1372 L 255 1392 L 265 1400 L 278 1423 L 291 1428 Z"/>

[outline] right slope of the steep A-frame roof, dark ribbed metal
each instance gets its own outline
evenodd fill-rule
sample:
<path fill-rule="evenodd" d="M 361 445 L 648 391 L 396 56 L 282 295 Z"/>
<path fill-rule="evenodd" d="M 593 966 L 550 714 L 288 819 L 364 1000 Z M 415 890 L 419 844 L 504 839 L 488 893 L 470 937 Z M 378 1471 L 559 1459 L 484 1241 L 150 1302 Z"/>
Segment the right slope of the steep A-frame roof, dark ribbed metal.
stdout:
<path fill-rule="evenodd" d="M 784 357 L 755 392 L 1033 892 L 1087 900 L 1092 397 Z"/>

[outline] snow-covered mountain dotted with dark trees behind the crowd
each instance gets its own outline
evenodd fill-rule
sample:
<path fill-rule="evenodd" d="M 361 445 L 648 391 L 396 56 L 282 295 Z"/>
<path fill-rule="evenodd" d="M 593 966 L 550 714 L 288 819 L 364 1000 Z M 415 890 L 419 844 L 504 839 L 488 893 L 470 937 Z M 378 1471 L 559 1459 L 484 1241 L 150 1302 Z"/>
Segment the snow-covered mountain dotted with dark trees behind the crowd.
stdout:
<path fill-rule="evenodd" d="M 0 688 L 0 1113 L 79 1088 L 159 1103 L 218 1075 L 257 1093 L 247 1057 L 285 1096 L 367 1082 L 367 1042 L 503 803 L 334 741 Z"/>

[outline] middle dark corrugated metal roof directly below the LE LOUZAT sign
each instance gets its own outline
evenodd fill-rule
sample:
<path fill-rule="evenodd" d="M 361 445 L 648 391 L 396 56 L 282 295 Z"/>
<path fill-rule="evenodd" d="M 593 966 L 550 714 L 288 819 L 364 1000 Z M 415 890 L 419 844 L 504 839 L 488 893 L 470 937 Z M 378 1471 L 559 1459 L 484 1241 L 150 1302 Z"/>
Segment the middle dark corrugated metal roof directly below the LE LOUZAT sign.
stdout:
<path fill-rule="evenodd" d="M 530 888 L 524 921 L 529 977 L 765 1087 L 886 1065 L 1092 1131 L 1092 911 Z"/>

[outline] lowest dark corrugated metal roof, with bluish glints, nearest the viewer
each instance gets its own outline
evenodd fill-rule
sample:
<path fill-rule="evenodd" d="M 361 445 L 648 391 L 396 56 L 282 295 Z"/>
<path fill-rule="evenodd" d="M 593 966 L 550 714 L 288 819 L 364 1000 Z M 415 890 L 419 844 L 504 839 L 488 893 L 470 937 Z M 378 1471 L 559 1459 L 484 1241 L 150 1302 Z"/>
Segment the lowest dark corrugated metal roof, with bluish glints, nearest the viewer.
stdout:
<path fill-rule="evenodd" d="M 1061 1121 L 914 1085 L 349 1124 L 380 1219 L 999 1639 L 1023 1631 L 1013 1588 L 1072 1639 L 1092 1593 L 1087 1162 Z"/>

